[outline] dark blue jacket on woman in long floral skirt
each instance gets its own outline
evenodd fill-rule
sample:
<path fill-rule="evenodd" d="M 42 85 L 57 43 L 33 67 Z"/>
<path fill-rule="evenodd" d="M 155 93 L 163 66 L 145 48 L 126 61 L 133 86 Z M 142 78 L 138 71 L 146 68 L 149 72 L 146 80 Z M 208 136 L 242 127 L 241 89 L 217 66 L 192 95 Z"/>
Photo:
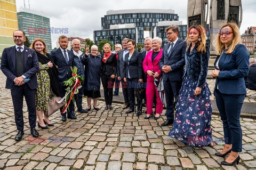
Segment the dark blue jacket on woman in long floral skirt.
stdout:
<path fill-rule="evenodd" d="M 199 53 L 196 51 L 197 45 L 195 45 L 190 53 L 190 47 L 191 44 L 185 55 L 186 70 L 184 76 L 187 73 L 191 79 L 197 82 L 197 87 L 203 88 L 207 77 L 210 48 L 206 46 L 206 52 Z"/>

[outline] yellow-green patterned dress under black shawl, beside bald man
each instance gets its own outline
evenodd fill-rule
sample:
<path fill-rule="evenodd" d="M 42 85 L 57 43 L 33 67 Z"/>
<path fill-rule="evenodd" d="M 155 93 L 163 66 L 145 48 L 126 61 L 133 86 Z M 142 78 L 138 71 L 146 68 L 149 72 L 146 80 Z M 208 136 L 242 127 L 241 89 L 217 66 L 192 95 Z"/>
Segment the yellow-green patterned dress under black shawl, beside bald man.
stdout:
<path fill-rule="evenodd" d="M 45 55 L 46 56 L 46 55 Z M 47 56 L 46 56 L 47 57 Z M 47 110 L 47 102 L 53 92 L 50 86 L 50 76 L 46 71 L 48 64 L 39 62 L 39 71 L 36 73 L 38 87 L 36 89 L 36 110 Z"/>

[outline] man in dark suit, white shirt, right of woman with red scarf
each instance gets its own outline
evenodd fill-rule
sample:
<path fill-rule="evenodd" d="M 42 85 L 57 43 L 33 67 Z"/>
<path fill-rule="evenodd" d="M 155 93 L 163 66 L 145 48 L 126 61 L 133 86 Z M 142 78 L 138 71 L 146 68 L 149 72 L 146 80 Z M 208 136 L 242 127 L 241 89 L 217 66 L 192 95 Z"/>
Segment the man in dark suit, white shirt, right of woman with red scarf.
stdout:
<path fill-rule="evenodd" d="M 117 59 L 117 78 L 118 80 L 121 80 L 122 83 L 122 90 L 123 90 L 123 95 L 124 95 L 124 103 L 125 106 L 123 109 L 129 108 L 129 96 L 128 96 L 128 90 L 127 90 L 127 83 L 124 82 L 124 75 L 125 75 L 125 70 L 124 70 L 124 59 L 125 59 L 125 54 L 129 53 L 129 50 L 127 50 L 127 40 L 129 38 L 124 38 L 123 39 L 123 50 L 118 52 L 118 59 Z"/>

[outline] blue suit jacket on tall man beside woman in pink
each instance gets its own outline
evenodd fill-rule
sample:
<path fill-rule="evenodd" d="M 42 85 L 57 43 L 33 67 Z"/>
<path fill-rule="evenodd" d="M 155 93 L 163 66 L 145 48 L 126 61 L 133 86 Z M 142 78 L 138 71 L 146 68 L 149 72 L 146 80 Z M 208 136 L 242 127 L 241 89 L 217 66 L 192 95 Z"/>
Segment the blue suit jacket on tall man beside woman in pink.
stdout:
<path fill-rule="evenodd" d="M 186 52 L 186 42 L 178 39 L 172 48 L 171 55 L 168 56 L 168 48 L 171 43 L 167 43 L 164 46 L 162 58 L 159 61 L 159 68 L 162 70 L 163 66 L 171 66 L 172 71 L 167 74 L 163 72 L 163 79 L 166 81 L 167 78 L 171 81 L 181 81 L 183 76 L 183 66 L 185 66 L 185 52 Z"/>

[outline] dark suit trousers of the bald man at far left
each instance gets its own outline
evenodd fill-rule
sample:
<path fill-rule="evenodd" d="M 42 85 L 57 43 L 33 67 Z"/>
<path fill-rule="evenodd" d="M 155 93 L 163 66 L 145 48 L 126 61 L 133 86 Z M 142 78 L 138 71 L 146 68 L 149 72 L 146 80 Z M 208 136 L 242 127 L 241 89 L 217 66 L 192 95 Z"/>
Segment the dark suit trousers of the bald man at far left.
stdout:
<path fill-rule="evenodd" d="M 36 127 L 36 106 L 35 106 L 35 97 L 36 90 L 31 90 L 27 83 L 17 86 L 11 90 L 12 102 L 15 115 L 15 124 L 18 131 L 23 131 L 24 121 L 23 121 L 23 96 L 28 107 L 28 121 L 30 128 Z"/>

